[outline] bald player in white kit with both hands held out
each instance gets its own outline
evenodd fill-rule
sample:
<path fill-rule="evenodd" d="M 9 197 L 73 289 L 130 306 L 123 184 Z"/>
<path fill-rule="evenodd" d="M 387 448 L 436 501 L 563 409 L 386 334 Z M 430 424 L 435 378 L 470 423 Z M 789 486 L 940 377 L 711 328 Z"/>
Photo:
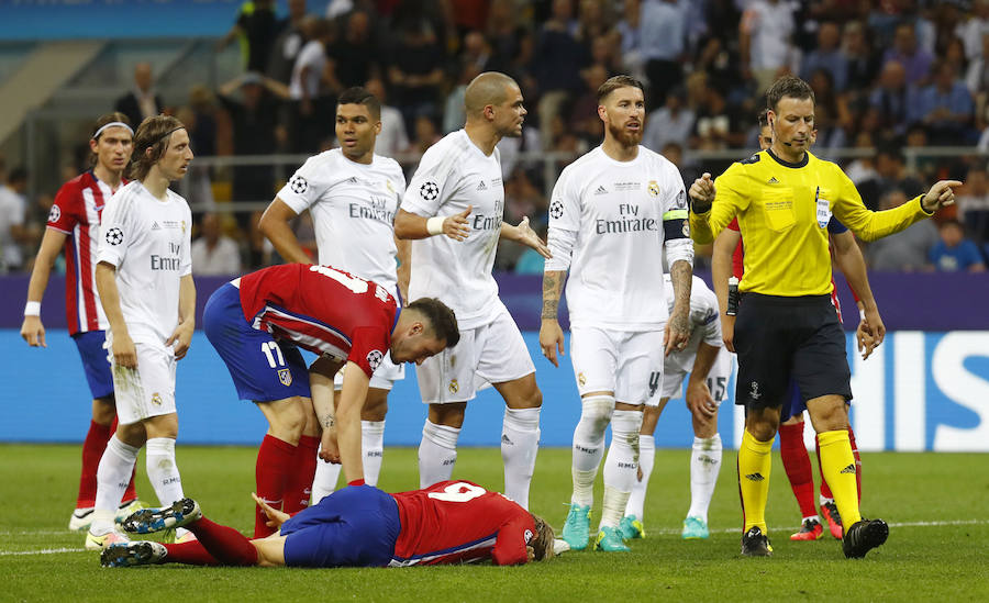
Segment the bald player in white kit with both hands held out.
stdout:
<path fill-rule="evenodd" d="M 451 478 L 467 401 L 492 384 L 507 406 L 504 493 L 527 509 L 543 394 L 522 333 L 498 298 L 491 267 L 499 238 L 545 257 L 549 250 L 527 217 L 518 226 L 502 222 L 504 187 L 494 145 L 504 136 L 522 135 L 526 111 L 519 85 L 504 74 L 481 74 L 467 86 L 464 103 L 466 125 L 422 156 L 395 221 L 396 235 L 412 239 L 409 294 L 443 299 L 460 327 L 456 349 L 415 367 L 422 400 L 430 405 L 419 480 L 425 488 Z"/>

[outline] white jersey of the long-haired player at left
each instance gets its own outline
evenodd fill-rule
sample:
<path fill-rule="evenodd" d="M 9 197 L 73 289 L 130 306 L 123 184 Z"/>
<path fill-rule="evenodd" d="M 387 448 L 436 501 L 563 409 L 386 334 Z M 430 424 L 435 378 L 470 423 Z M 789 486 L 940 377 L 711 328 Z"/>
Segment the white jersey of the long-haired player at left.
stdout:
<path fill-rule="evenodd" d="M 178 325 L 179 280 L 192 273 L 192 213 L 171 190 L 160 201 L 140 181 L 103 208 L 98 261 L 116 266 L 120 309 L 131 339 L 163 344 Z"/>

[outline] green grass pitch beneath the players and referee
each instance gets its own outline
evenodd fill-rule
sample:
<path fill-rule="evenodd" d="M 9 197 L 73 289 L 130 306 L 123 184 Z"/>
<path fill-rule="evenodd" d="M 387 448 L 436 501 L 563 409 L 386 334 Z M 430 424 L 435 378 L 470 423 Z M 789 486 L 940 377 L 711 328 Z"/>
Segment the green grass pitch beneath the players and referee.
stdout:
<path fill-rule="evenodd" d="M 186 495 L 212 520 L 244 533 L 255 449 L 184 447 Z M 418 485 L 416 451 L 388 448 L 381 487 Z M 890 523 L 887 544 L 865 560 L 844 559 L 838 541 L 791 543 L 799 522 L 774 453 L 768 521 L 775 555 L 738 556 L 741 512 L 735 455 L 726 451 L 711 507 L 711 539 L 684 541 L 687 450 L 658 450 L 646 507 L 647 538 L 631 554 L 569 552 L 521 568 L 457 566 L 297 570 L 163 566 L 103 569 L 66 529 L 78 480 L 78 446 L 0 446 L 0 601 L 987 601 L 989 455 L 865 454 L 866 516 Z M 540 451 L 532 509 L 559 528 L 570 491 L 570 453 Z M 155 496 L 138 460 L 138 492 Z M 465 448 L 455 478 L 500 490 L 500 453 Z M 598 482 L 598 506 L 601 495 Z M 599 515 L 592 517 L 597 525 Z"/>

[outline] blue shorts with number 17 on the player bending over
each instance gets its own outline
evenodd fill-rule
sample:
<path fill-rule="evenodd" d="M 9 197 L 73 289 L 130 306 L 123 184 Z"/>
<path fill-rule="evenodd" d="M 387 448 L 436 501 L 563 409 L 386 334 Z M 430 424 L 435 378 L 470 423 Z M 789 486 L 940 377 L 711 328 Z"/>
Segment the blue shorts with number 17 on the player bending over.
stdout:
<path fill-rule="evenodd" d="M 202 312 L 202 330 L 226 364 L 241 400 L 271 402 L 309 398 L 309 370 L 299 349 L 252 327 L 241 309 L 241 290 L 226 283 Z"/>

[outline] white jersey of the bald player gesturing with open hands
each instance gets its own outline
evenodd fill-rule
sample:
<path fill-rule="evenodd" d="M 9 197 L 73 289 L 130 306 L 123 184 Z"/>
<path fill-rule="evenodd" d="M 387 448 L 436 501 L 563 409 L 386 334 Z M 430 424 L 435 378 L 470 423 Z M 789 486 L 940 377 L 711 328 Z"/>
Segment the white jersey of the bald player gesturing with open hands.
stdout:
<path fill-rule="evenodd" d="M 504 308 L 491 276 L 504 214 L 501 160 L 496 148 L 485 155 L 458 130 L 422 156 L 402 199 L 402 209 L 432 217 L 453 215 L 470 205 L 466 241 L 435 235 L 412 242 L 409 297 L 438 298 L 457 314 L 462 330 L 490 323 Z"/>

